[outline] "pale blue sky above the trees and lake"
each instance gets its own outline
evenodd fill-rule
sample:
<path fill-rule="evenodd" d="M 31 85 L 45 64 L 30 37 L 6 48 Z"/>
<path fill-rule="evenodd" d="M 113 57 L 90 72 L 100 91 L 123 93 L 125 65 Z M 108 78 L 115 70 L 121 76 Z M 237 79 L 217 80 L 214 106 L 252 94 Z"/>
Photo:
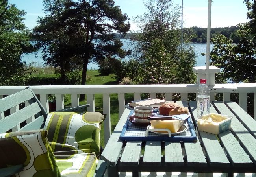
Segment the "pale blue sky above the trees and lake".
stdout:
<path fill-rule="evenodd" d="M 37 24 L 37 18 L 44 16 L 43 0 L 9 0 L 18 9 L 24 9 L 24 23 L 29 29 Z M 130 19 L 143 14 L 146 9 L 142 0 L 114 0 L 120 6 L 122 13 L 126 13 Z M 182 0 L 173 0 L 173 6 Z M 236 26 L 239 23 L 248 22 L 247 8 L 243 0 L 212 0 L 211 28 Z M 207 28 L 208 0 L 183 0 L 183 28 L 198 26 Z M 136 29 L 136 24 L 131 23 L 131 31 Z"/>

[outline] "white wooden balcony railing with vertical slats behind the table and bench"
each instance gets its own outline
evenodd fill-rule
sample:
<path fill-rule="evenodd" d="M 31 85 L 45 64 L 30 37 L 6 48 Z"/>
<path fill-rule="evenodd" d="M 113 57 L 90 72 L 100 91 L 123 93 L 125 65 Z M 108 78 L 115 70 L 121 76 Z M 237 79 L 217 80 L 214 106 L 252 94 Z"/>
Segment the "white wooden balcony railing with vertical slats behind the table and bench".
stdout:
<path fill-rule="evenodd" d="M 86 94 L 87 103 L 91 106 L 88 108 L 89 112 L 95 112 L 95 94 L 102 94 L 103 113 L 107 114 L 104 122 L 105 143 L 111 135 L 111 116 L 110 116 L 110 94 L 118 94 L 118 110 L 119 118 L 124 111 L 125 94 L 134 94 L 134 100 L 139 100 L 142 93 L 149 93 L 150 97 L 156 98 L 156 93 L 165 93 L 167 101 L 172 101 L 173 93 L 180 93 L 181 100 L 187 101 L 189 93 L 195 93 L 198 85 L 196 84 L 179 84 L 179 85 L 50 85 L 50 86 L 30 86 L 35 94 L 40 96 L 40 101 L 49 112 L 48 95 L 54 94 L 56 96 L 56 109 L 64 109 L 64 94 L 71 95 L 72 107 L 79 105 L 79 95 Z M 10 95 L 20 90 L 25 89 L 26 86 L 2 86 L 0 87 L 0 98 L 3 95 Z M 222 93 L 222 101 L 230 101 L 231 93 L 239 94 L 239 105 L 246 111 L 247 93 L 254 93 L 254 112 L 256 111 L 256 84 L 215 84 L 211 87 L 211 101 L 214 100 L 215 93 Z M 13 112 L 15 112 L 14 108 Z M 4 115 L 1 114 L 0 118 Z M 256 119 L 254 113 L 254 119 Z"/>

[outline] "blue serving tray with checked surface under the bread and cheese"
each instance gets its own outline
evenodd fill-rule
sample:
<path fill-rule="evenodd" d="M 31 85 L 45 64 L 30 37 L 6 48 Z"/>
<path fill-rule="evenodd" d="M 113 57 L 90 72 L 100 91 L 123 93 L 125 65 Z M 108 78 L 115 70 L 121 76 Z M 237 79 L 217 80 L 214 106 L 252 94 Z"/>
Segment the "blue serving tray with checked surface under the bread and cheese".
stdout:
<path fill-rule="evenodd" d="M 153 115 L 156 114 L 158 110 L 153 110 Z M 133 115 L 134 111 L 131 110 L 129 116 Z M 148 132 L 148 136 L 145 136 L 145 131 L 147 126 L 135 125 L 129 120 L 126 121 L 122 129 L 120 140 L 122 141 L 173 141 L 173 142 L 193 142 L 197 141 L 197 136 L 195 133 L 195 127 L 192 122 L 191 117 L 184 121 L 184 125 L 188 129 L 177 135 L 159 135 L 153 132 Z"/>

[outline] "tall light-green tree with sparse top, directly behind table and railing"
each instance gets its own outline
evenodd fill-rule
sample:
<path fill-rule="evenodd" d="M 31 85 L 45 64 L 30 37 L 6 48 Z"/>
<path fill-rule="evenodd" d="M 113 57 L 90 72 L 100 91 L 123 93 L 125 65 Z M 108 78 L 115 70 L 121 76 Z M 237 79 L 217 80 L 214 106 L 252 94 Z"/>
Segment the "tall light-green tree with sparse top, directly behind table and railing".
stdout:
<path fill-rule="evenodd" d="M 195 53 L 187 44 L 180 50 L 180 7 L 172 8 L 172 0 L 143 3 L 147 12 L 135 18 L 141 30 L 135 36 L 139 51 L 136 57 L 141 65 L 137 81 L 143 84 L 193 83 Z M 187 33 L 192 34 L 193 31 L 187 30 Z M 184 36 L 185 43 L 189 38 L 189 35 Z M 184 66 L 189 77 L 182 77 L 184 69 L 178 66 Z"/>

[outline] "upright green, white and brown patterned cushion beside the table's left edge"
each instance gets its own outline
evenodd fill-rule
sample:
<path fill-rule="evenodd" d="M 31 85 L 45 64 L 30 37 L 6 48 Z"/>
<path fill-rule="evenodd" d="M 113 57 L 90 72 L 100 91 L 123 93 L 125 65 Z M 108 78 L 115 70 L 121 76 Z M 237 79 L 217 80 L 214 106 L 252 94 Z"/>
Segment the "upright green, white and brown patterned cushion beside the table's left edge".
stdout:
<path fill-rule="evenodd" d="M 100 128 L 104 116 L 98 112 L 53 112 L 48 114 L 44 129 L 54 152 L 95 152 L 100 155 Z"/>

